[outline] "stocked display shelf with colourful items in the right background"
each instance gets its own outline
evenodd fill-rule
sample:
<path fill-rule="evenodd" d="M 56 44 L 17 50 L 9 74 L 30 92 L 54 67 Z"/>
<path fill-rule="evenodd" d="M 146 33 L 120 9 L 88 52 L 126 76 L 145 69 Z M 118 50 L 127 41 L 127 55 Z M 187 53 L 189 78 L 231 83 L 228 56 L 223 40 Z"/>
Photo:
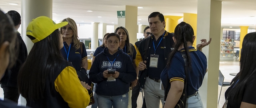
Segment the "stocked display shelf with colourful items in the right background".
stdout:
<path fill-rule="evenodd" d="M 233 60 L 234 58 L 234 42 L 220 42 L 220 60 Z"/>

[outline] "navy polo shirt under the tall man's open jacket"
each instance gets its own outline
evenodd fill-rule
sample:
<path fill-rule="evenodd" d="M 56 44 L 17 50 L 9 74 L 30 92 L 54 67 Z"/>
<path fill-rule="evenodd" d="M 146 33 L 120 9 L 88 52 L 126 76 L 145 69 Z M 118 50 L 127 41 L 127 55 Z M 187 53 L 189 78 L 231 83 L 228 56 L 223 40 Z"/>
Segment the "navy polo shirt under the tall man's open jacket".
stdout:
<path fill-rule="evenodd" d="M 154 36 L 152 36 L 154 38 Z M 154 44 L 152 44 L 150 46 L 150 54 L 154 54 L 155 50 L 154 50 L 154 45 L 156 48 L 156 53 L 155 55 L 159 55 L 158 57 L 158 64 L 157 64 L 157 68 L 150 68 L 149 66 L 148 68 L 148 77 L 150 78 L 156 78 L 156 79 L 160 79 L 160 74 L 162 72 L 162 70 L 164 69 L 164 42 L 163 40 L 160 42 L 161 38 L 163 36 L 160 36 L 157 41 L 154 38 Z M 158 43 L 160 42 L 160 44 L 158 45 Z M 158 46 L 158 47 L 157 47 Z"/>

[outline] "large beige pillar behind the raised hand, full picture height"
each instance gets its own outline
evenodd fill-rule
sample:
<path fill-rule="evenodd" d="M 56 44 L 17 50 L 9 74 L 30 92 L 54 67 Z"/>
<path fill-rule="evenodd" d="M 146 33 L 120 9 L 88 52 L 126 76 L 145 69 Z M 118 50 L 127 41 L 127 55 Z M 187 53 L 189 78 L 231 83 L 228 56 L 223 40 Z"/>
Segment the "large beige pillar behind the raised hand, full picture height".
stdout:
<path fill-rule="evenodd" d="M 199 92 L 204 108 L 217 108 L 222 4 L 218 0 L 198 0 L 197 6 L 196 42 L 212 38 L 211 44 L 202 49 L 208 61 L 208 72 Z"/>

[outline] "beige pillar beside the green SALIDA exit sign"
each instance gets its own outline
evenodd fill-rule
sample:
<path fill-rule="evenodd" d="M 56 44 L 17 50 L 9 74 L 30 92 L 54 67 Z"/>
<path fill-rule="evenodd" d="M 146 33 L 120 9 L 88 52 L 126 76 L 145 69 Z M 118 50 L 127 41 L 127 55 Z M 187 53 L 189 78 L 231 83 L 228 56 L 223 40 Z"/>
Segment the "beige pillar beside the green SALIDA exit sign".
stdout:
<path fill-rule="evenodd" d="M 127 29 L 130 37 L 130 43 L 137 42 L 137 16 L 138 7 L 136 6 L 119 6 L 117 11 L 125 10 L 125 18 L 118 18 L 118 26 Z M 116 28 L 115 28 L 116 29 Z"/>

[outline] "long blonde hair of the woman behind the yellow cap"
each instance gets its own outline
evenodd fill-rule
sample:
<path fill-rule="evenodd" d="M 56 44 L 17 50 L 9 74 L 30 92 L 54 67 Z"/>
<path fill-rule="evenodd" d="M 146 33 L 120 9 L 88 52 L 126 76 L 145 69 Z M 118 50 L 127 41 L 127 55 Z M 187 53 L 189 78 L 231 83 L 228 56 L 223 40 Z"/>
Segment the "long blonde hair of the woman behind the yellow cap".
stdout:
<path fill-rule="evenodd" d="M 78 33 L 77 33 L 77 26 L 76 26 L 76 22 L 71 19 L 71 18 L 65 18 L 64 20 L 62 20 L 62 22 L 68 22 L 68 24 L 70 25 L 70 27 L 73 30 L 73 43 L 74 43 L 74 48 L 76 48 L 76 50 L 78 50 L 80 48 L 80 44 L 81 42 L 78 40 Z M 60 32 L 62 33 L 62 28 L 60 28 Z"/>

